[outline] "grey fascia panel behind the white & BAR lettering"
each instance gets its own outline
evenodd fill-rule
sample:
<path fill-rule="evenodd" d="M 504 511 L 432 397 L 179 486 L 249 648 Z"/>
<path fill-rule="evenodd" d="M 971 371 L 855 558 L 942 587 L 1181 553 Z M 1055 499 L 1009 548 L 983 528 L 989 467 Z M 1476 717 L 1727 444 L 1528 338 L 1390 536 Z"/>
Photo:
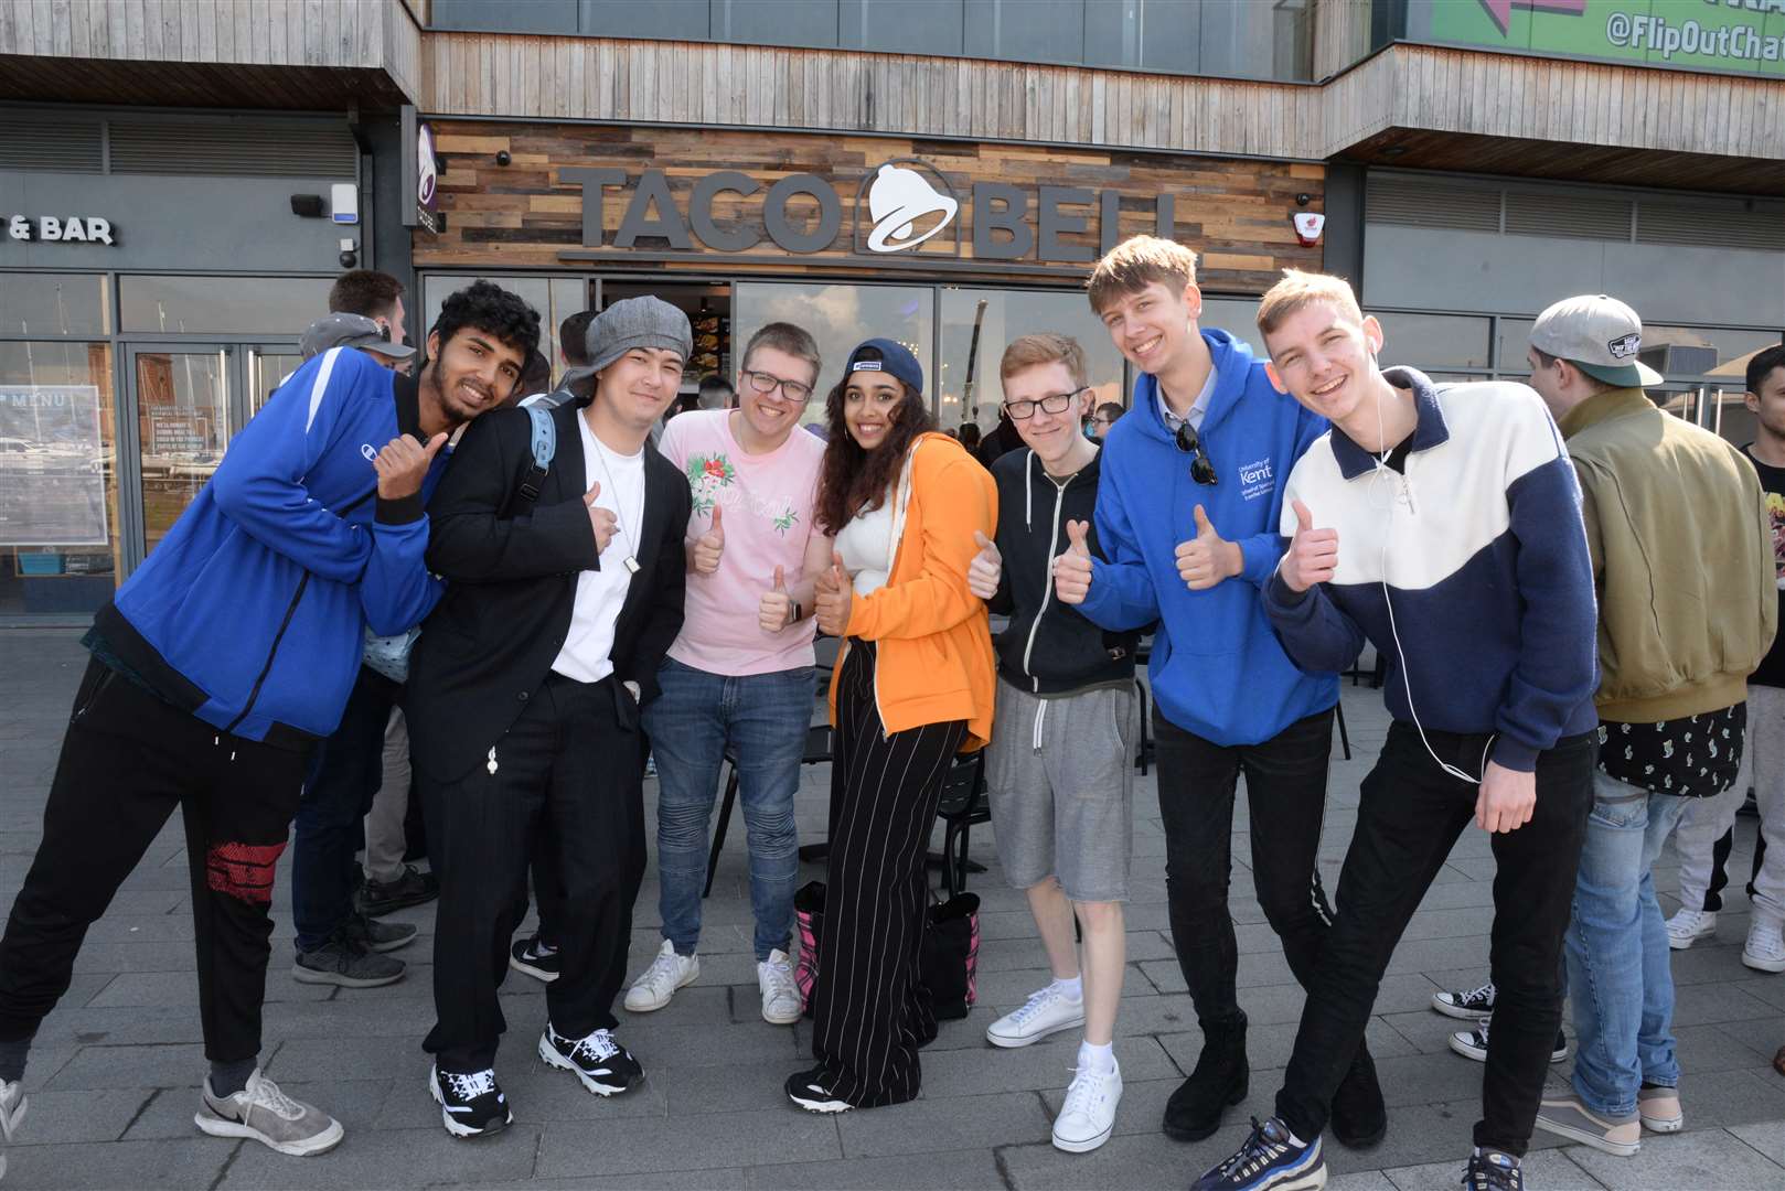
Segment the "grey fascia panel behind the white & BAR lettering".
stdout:
<path fill-rule="evenodd" d="M 352 175 L 350 175 L 352 177 Z M 118 245 L 0 241 L 0 266 L 34 270 L 336 271 L 361 227 L 291 214 L 291 195 L 339 179 L 170 179 L 0 171 L 0 211 L 111 220 Z M 302 329 L 295 329 L 302 330 Z"/>

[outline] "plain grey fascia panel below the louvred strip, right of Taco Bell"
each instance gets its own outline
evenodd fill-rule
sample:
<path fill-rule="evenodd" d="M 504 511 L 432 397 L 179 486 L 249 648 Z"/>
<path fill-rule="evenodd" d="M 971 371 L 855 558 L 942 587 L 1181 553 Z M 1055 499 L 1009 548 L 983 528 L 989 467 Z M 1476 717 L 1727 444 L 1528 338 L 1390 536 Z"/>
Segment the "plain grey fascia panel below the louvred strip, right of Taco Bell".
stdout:
<path fill-rule="evenodd" d="M 1610 293 L 1651 323 L 1785 325 L 1780 255 L 1369 225 L 1364 304 L 1535 316 L 1576 293 Z"/>

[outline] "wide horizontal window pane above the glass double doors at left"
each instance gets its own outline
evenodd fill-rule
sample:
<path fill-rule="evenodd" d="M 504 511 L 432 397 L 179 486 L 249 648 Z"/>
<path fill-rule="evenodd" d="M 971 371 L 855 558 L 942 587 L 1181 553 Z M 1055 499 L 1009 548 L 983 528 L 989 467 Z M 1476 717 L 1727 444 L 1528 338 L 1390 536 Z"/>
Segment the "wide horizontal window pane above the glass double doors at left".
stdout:
<path fill-rule="evenodd" d="M 330 277 L 120 277 L 127 332 L 289 334 L 328 312 Z"/>

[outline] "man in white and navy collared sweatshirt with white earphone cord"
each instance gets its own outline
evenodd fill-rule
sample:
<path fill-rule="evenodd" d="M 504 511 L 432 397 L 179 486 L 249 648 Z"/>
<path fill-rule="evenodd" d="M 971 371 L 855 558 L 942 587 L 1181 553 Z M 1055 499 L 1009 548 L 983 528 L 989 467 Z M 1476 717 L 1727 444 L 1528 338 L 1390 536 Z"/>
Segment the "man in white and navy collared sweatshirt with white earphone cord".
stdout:
<path fill-rule="evenodd" d="M 1369 639 L 1389 659 L 1394 721 L 1358 791 L 1339 918 L 1276 1114 L 1194 1191 L 1324 1186 L 1321 1130 L 1382 973 L 1471 821 L 1492 834 L 1498 866 L 1498 1004 L 1462 1186 L 1517 1191 L 1562 1021 L 1562 930 L 1592 805 L 1580 486 L 1523 384 L 1439 389 L 1410 368 L 1378 370 L 1382 327 L 1337 277 L 1287 271 L 1258 329 L 1273 382 L 1332 421 L 1289 475 L 1291 546 L 1264 605 L 1310 671 L 1351 666 Z"/>

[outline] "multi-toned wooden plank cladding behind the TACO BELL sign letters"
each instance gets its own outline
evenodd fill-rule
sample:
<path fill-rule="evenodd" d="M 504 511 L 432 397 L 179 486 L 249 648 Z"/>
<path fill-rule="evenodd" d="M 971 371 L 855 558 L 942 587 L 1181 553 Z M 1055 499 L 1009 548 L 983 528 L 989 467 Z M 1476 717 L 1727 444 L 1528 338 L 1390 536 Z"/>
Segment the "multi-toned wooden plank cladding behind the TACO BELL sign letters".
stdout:
<path fill-rule="evenodd" d="M 1258 293 L 1285 266 L 1321 266 L 1321 248 L 1301 246 L 1291 223 L 1292 212 L 1323 207 L 1319 164 L 871 136 L 469 121 L 436 125 L 436 146 L 446 161 L 439 175 L 446 229 L 437 236 L 414 232 L 416 268 L 648 266 L 1080 284 L 1108 243 L 1160 230 L 1162 209 L 1171 236 L 1203 255 L 1205 287 Z M 511 155 L 507 166 L 496 164 L 498 152 Z M 866 184 L 889 162 L 912 168 L 959 207 L 925 243 L 876 254 L 868 248 L 873 218 Z M 602 195 L 600 232 L 593 207 L 585 232 L 578 168 L 625 171 L 623 184 L 587 187 Z M 660 196 L 643 200 L 650 189 L 641 187 L 646 171 L 660 171 L 669 209 Z M 702 184 L 721 171 L 748 177 L 741 189 L 755 186 L 753 193 Z M 816 250 L 791 252 L 782 241 L 821 227 L 819 198 L 796 193 L 773 204 L 793 234 L 776 236 L 771 227 L 771 191 L 796 175 L 826 182 L 837 198 L 835 232 Z M 623 243 L 628 214 L 655 234 Z M 1114 223 L 1107 223 L 1110 216 Z M 710 218 L 714 239 L 737 250 L 703 243 L 703 218 Z M 916 234 L 937 220 L 934 212 L 919 218 Z M 673 236 L 682 229 L 685 246 L 677 246 Z M 991 243 L 976 250 L 984 237 Z"/>

